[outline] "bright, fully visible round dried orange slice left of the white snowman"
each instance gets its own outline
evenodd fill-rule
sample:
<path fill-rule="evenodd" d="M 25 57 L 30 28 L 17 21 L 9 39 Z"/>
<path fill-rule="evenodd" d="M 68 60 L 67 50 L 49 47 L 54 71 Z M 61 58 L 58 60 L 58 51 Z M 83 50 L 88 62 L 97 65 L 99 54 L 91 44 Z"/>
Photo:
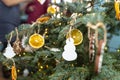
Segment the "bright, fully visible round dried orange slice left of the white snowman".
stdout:
<path fill-rule="evenodd" d="M 29 38 L 29 45 L 32 48 L 38 49 L 41 48 L 45 43 L 44 37 L 38 33 L 34 33 Z"/>

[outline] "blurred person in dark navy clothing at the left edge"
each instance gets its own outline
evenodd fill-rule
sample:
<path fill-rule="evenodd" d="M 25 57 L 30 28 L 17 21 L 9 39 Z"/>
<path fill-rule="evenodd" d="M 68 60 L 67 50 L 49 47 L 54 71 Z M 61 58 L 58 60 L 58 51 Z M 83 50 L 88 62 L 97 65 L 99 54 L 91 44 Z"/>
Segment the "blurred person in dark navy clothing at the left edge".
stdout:
<path fill-rule="evenodd" d="M 5 35 L 20 24 L 19 4 L 31 0 L 0 0 L 0 51 L 7 46 Z"/>

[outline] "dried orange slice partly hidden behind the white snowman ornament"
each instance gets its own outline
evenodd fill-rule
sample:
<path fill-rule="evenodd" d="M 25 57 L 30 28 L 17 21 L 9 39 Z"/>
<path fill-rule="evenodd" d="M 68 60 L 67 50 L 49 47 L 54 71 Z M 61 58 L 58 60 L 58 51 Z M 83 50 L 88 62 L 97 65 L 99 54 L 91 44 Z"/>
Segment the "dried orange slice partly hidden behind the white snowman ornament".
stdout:
<path fill-rule="evenodd" d="M 83 34 L 79 29 L 72 29 L 68 34 L 66 35 L 66 38 L 73 38 L 74 45 L 79 45 L 83 41 Z"/>

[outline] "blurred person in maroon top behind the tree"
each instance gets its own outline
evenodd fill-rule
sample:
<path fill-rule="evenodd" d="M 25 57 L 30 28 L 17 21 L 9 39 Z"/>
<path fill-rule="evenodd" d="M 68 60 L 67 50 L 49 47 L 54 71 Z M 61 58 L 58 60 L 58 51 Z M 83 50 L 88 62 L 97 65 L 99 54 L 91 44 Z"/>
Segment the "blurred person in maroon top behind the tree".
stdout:
<path fill-rule="evenodd" d="M 46 14 L 50 0 L 42 0 L 41 3 L 39 0 L 33 0 L 26 6 L 26 14 L 28 15 L 27 23 L 32 24 L 37 18 Z"/>

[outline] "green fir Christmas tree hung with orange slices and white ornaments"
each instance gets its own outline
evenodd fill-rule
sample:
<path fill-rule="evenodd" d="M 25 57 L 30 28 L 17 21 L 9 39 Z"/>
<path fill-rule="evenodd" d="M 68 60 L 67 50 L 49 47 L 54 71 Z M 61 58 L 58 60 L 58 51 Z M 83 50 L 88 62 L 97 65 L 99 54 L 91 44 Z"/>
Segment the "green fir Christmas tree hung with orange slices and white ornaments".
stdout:
<path fill-rule="evenodd" d="M 120 29 L 119 4 L 51 4 L 36 22 L 21 24 L 7 35 L 8 41 L 16 40 L 13 46 L 8 43 L 0 61 L 12 68 L 13 80 L 119 80 L 119 50 L 108 49 L 111 36 Z"/>

